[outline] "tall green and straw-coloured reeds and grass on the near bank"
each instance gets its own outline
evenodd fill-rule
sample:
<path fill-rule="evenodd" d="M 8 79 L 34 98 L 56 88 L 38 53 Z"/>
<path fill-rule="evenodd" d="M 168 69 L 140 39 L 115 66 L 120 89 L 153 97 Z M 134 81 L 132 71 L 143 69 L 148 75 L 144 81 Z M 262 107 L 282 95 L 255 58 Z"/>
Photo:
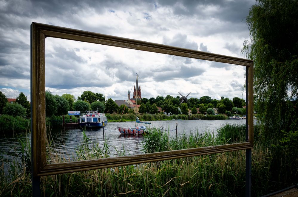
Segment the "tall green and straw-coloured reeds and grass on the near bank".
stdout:
<path fill-rule="evenodd" d="M 262 131 L 260 126 L 254 128 L 252 196 L 271 193 L 288 187 L 284 183 L 298 180 L 296 149 L 283 146 L 278 139 L 265 139 Z M 177 140 L 154 133 L 145 137 L 144 152 L 245 141 L 245 126 L 227 125 L 217 132 L 218 136 L 193 133 Z M 3 165 L 0 169 L 0 196 L 31 196 L 30 171 L 26 170 L 28 162 L 24 159 L 30 149 L 28 143 L 23 144 L 22 164 L 12 163 L 8 175 L 4 174 Z M 108 153 L 106 144 L 90 144 L 84 135 L 75 154 L 77 160 L 86 160 L 109 157 Z M 47 154 L 48 160 L 65 162 L 51 149 Z M 41 178 L 41 192 L 42 196 L 245 196 L 245 151 L 45 176 Z"/>

